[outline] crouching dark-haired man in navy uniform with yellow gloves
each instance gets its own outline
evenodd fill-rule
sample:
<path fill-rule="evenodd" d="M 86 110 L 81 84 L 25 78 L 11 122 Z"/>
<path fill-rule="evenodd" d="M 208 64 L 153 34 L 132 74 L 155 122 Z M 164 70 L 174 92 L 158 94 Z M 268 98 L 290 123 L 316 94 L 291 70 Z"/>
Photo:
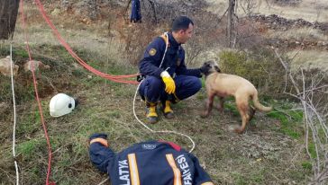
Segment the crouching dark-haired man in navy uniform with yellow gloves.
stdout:
<path fill-rule="evenodd" d="M 158 121 L 156 107 L 161 102 L 164 116 L 173 118 L 171 103 L 184 100 L 197 93 L 201 87 L 201 69 L 187 69 L 185 44 L 192 36 L 194 22 L 186 16 L 179 16 L 172 23 L 172 31 L 153 40 L 139 63 L 139 70 L 145 79 L 139 93 L 146 101 L 146 117 L 149 123 Z"/>

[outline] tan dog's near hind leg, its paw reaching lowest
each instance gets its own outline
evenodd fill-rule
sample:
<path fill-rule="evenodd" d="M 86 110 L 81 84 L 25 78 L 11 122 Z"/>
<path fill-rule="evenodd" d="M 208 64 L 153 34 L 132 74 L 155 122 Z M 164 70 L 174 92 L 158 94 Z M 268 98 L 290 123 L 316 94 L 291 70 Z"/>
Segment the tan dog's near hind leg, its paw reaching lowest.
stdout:
<path fill-rule="evenodd" d="M 241 114 L 241 128 L 235 128 L 235 132 L 241 134 L 245 128 L 247 123 L 249 122 L 250 116 L 248 115 L 249 111 L 249 101 L 248 98 L 245 97 L 236 97 L 237 108 L 239 113 Z"/>

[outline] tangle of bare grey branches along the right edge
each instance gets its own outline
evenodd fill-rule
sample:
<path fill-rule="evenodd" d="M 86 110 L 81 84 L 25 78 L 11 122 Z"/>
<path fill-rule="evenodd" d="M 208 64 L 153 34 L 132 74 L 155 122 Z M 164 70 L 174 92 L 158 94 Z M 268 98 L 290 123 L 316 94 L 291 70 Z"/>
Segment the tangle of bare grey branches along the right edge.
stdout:
<path fill-rule="evenodd" d="M 305 149 L 306 154 L 310 157 L 311 163 L 313 164 L 313 172 L 314 176 L 312 178 L 311 184 L 314 185 L 322 185 L 325 184 L 328 179 L 328 127 L 326 123 L 325 116 L 328 115 L 326 112 L 327 106 L 324 105 L 322 107 L 321 100 L 324 95 L 324 88 L 328 87 L 328 84 L 323 84 L 323 75 L 311 75 L 311 81 L 306 81 L 306 76 L 304 73 L 304 69 L 300 69 L 301 71 L 301 82 L 300 85 L 297 84 L 294 76 L 291 73 L 290 67 L 288 63 L 282 59 L 282 57 L 278 54 L 278 50 L 273 48 L 276 56 L 278 57 L 282 66 L 284 66 L 286 70 L 286 82 L 287 85 L 287 76 L 291 81 L 294 89 L 296 90 L 296 94 L 287 93 L 286 86 L 285 92 L 286 94 L 298 99 L 303 107 L 304 111 L 304 124 L 305 124 Z M 294 57 L 293 57 L 294 58 Z M 299 88 L 302 87 L 302 89 Z M 318 93 L 323 92 L 323 95 L 320 97 Z M 318 100 L 317 97 L 319 95 Z M 315 102 L 316 101 L 316 102 Z M 326 101 L 326 100 L 325 100 Z M 309 145 L 314 145 L 314 152 L 310 152 Z"/>

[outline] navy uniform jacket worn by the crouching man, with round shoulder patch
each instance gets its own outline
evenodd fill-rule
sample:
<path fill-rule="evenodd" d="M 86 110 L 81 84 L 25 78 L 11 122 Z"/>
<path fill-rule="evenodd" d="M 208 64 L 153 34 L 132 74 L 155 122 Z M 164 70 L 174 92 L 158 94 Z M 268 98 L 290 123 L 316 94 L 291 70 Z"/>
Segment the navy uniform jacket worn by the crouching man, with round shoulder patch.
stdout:
<path fill-rule="evenodd" d="M 160 62 L 165 52 L 166 42 L 158 37 L 146 48 L 143 58 L 139 63 L 139 70 L 142 75 L 154 75 L 160 78 L 160 73 L 167 70 L 172 77 L 175 75 L 193 75 L 201 77 L 200 69 L 187 69 L 185 65 L 185 50 L 178 44 L 169 32 L 169 48 L 165 54 L 165 59 L 160 66 Z"/>

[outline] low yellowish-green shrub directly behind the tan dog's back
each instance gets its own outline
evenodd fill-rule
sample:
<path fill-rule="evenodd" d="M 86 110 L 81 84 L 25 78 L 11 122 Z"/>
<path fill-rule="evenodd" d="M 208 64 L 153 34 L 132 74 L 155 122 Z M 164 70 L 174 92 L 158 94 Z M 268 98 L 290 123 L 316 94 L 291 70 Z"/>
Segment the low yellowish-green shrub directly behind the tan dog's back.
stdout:
<path fill-rule="evenodd" d="M 219 57 L 223 73 L 246 78 L 258 88 L 259 93 L 276 97 L 283 93 L 285 70 L 269 50 L 225 50 Z"/>

